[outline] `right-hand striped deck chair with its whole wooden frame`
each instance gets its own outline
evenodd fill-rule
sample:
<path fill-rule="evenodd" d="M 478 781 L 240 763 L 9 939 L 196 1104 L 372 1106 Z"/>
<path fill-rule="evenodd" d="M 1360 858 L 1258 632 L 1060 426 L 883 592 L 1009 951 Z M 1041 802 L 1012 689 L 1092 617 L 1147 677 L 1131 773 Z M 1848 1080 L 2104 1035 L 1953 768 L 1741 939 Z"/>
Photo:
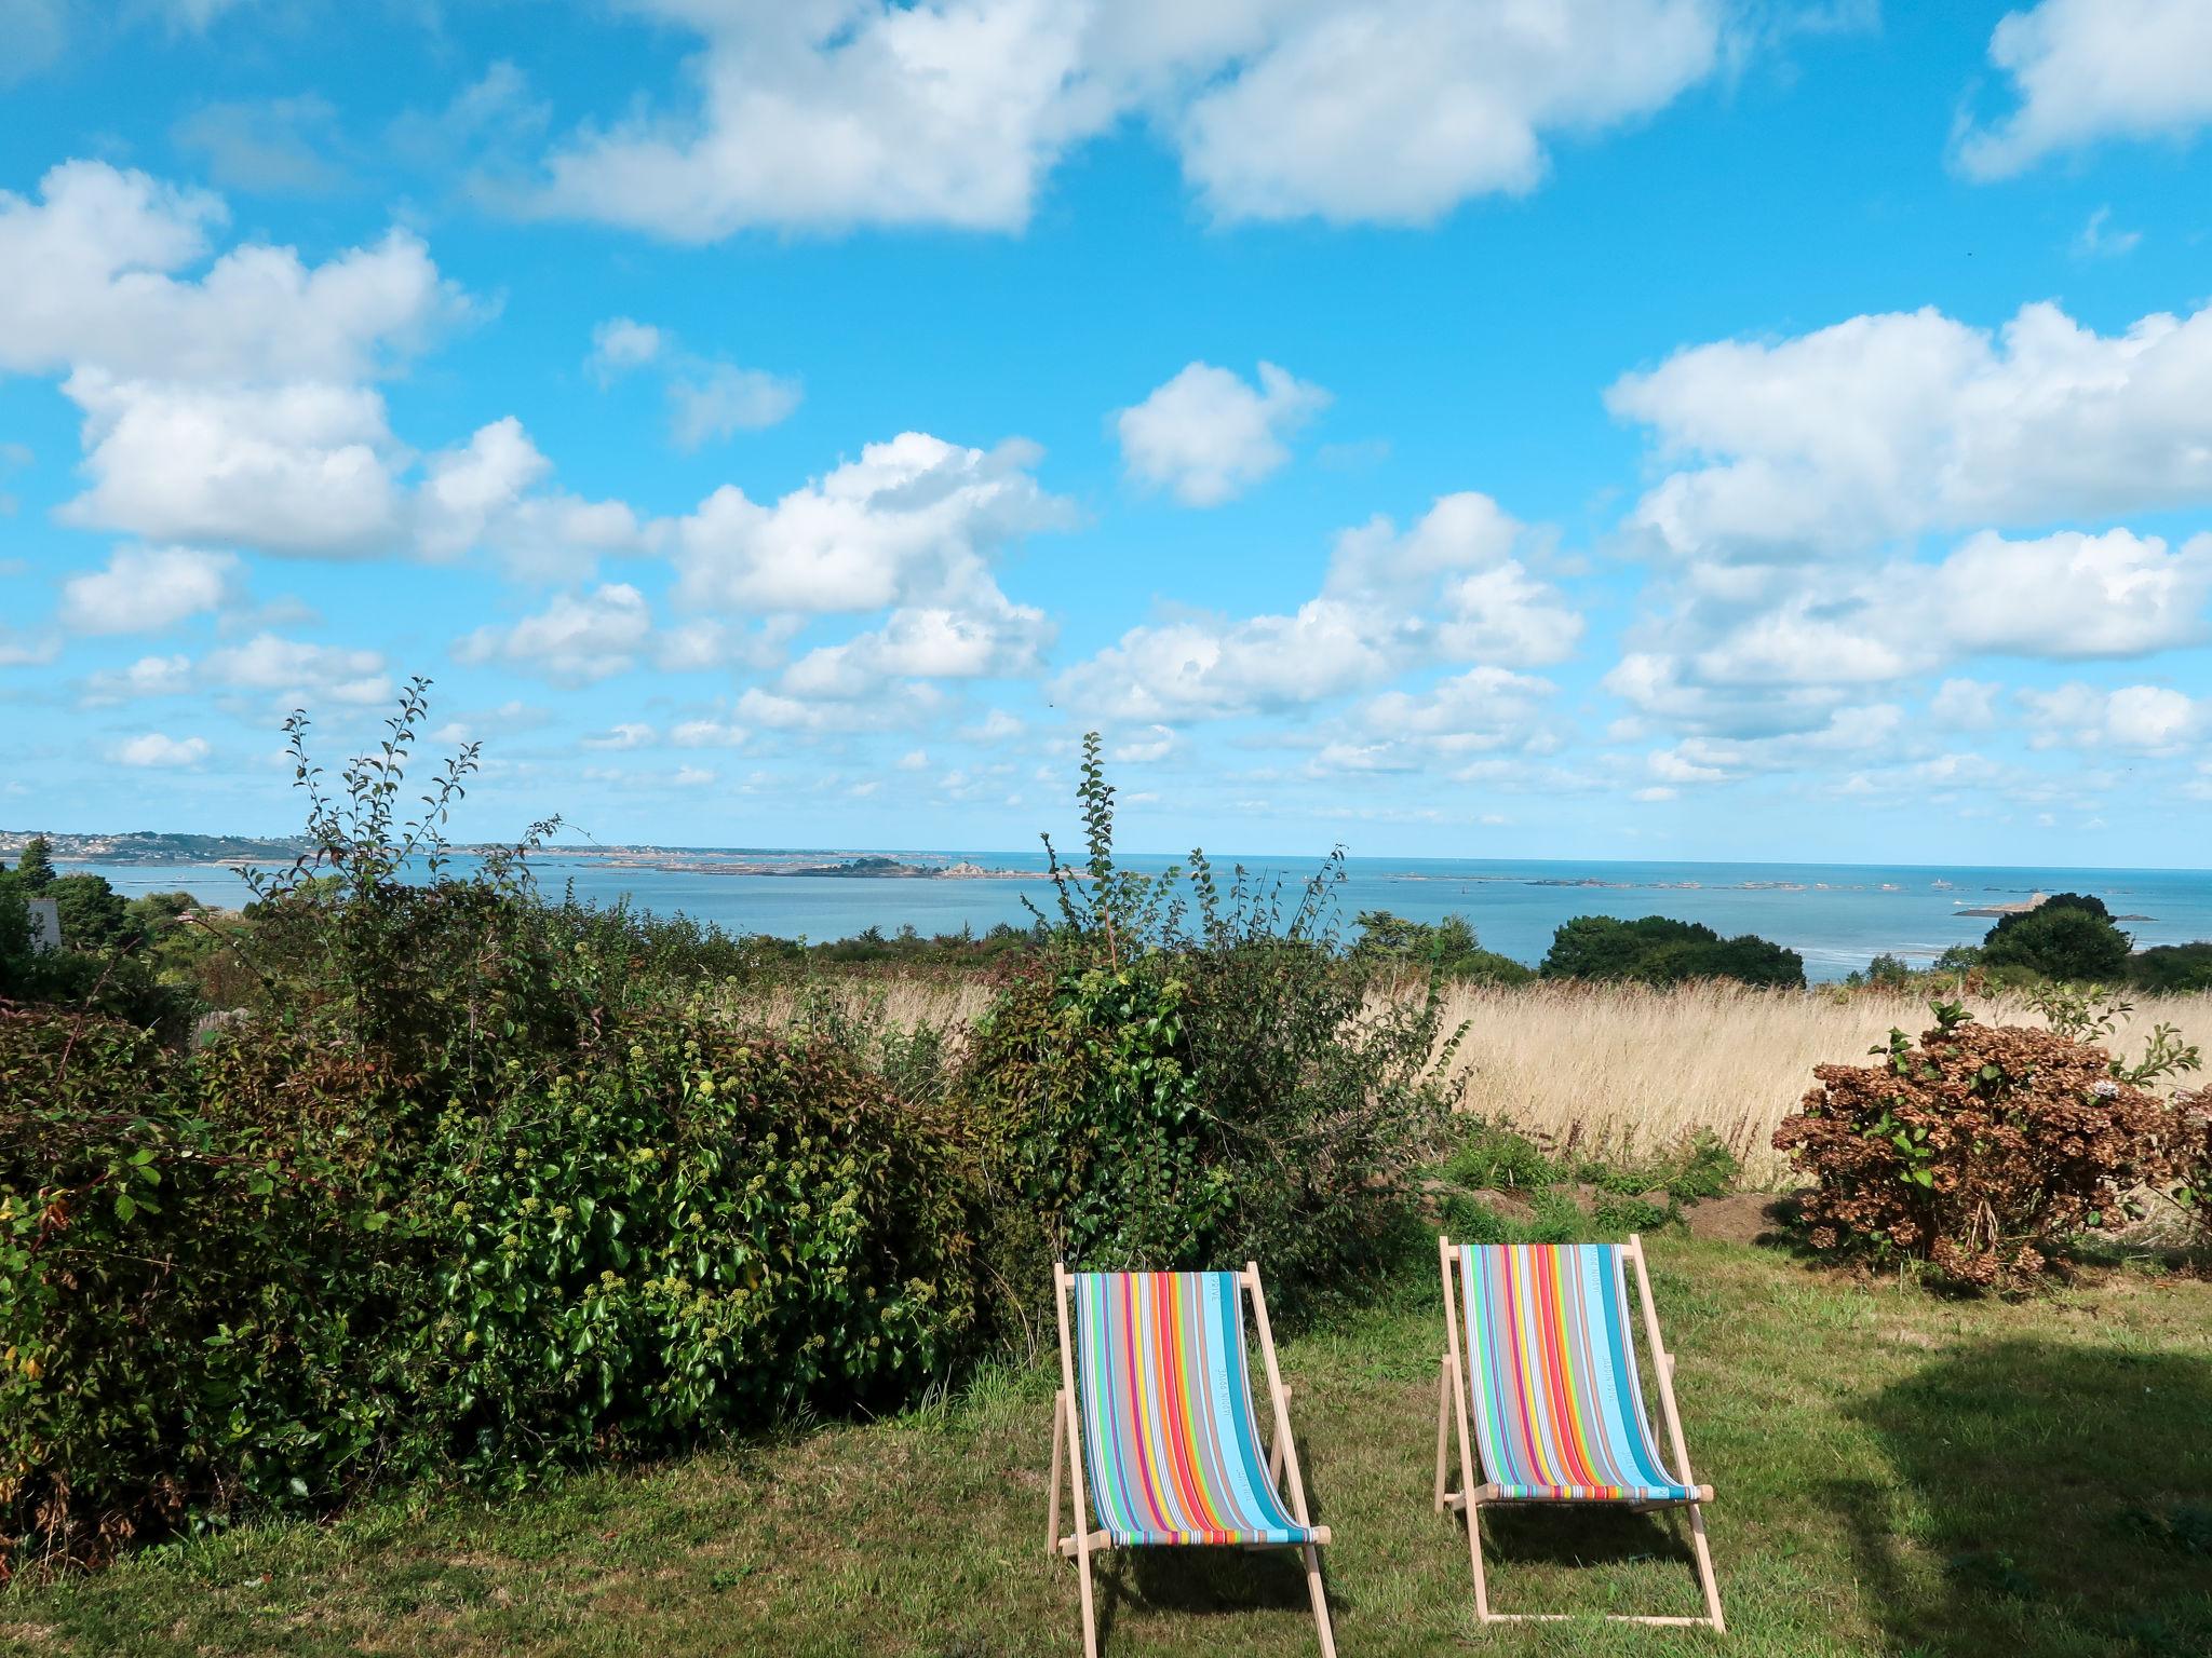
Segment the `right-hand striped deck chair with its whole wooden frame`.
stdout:
<path fill-rule="evenodd" d="M 1482 1623 L 1546 1623 L 1566 1614 L 1491 1612 L 1482 1581 L 1486 1503 L 1626 1503 L 1644 1514 L 1690 1512 L 1690 1552 L 1705 1592 L 1703 1618 L 1615 1623 L 1710 1625 L 1721 1618 L 1721 1587 L 1705 1547 L 1703 1503 L 1674 1410 L 1674 1355 L 1659 1340 L 1659 1313 L 1644 1271 L 1644 1240 L 1626 1245 L 1453 1245 L 1438 1240 L 1444 1269 L 1444 1362 L 1436 1397 L 1436 1510 L 1467 1514 L 1467 1554 L 1475 1567 Z M 1652 1444 L 1628 1324 L 1628 1267 L 1644 1302 L 1644 1346 L 1659 1382 L 1674 1468 Z M 1460 1360 L 1464 1342 L 1467 1360 Z M 1447 1439 L 1458 1415 L 1462 1490 L 1449 1492 Z M 1473 1452 L 1469 1457 L 1469 1424 Z M 1482 1483 L 1475 1483 L 1475 1481 Z"/>

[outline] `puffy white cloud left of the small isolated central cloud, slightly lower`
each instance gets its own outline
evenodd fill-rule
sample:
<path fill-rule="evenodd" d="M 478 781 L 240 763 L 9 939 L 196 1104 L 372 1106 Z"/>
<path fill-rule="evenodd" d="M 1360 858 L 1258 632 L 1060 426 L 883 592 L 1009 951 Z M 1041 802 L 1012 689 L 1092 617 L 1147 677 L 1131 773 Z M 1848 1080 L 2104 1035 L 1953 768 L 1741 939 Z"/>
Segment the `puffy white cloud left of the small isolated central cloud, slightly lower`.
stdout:
<path fill-rule="evenodd" d="M 1004 544 L 1068 522 L 1066 502 L 1029 473 L 1035 458 L 1024 442 L 960 449 L 907 431 L 774 506 L 723 484 L 672 526 L 679 606 L 836 612 L 964 599 Z"/>

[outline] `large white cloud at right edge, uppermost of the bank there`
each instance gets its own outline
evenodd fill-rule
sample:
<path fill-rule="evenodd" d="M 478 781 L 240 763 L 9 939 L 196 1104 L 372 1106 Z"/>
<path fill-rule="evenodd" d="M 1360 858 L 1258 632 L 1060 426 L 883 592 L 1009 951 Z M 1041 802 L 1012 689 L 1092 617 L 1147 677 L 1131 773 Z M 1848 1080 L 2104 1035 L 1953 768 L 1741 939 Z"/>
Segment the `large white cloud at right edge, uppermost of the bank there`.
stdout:
<path fill-rule="evenodd" d="M 2026 305 L 1995 336 L 1936 309 L 1677 351 L 1606 391 L 1690 460 L 1630 526 L 1686 559 L 1863 555 L 2212 502 L 2212 307 L 2126 334 Z"/>

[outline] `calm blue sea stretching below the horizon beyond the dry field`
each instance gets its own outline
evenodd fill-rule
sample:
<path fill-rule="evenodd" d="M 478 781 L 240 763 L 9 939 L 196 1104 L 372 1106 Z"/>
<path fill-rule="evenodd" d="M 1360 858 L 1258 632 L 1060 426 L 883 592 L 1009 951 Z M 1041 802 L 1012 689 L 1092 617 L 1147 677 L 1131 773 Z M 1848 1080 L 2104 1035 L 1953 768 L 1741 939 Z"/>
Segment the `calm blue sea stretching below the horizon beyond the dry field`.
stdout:
<path fill-rule="evenodd" d="M 849 853 L 821 853 L 821 860 Z M 922 862 L 971 858 L 991 869 L 1042 869 L 1037 853 L 896 853 Z M 467 864 L 467 860 L 456 860 Z M 1168 858 L 1128 858 L 1161 869 Z M 122 893 L 188 891 L 210 904 L 241 904 L 248 893 L 228 869 L 153 864 L 75 864 L 106 875 Z M 827 875 L 706 875 L 608 867 L 599 858 L 533 860 L 549 893 L 575 882 L 580 898 L 628 898 L 650 911 L 686 911 L 748 933 L 836 940 L 880 926 L 922 933 L 1026 924 L 1022 893 L 1051 911 L 1042 880 L 845 880 Z M 1230 860 L 1217 864 L 1223 873 Z M 1303 880 L 1314 864 L 1252 860 L 1252 869 Z M 2212 940 L 2212 871 L 2205 869 L 1971 869 L 1874 864 L 1650 864 L 1509 862 L 1442 858 L 1354 858 L 1338 891 L 1349 922 L 1363 909 L 1389 909 L 1420 922 L 1467 915 L 1482 942 L 1537 962 L 1553 928 L 1573 915 L 1674 915 L 1725 935 L 1759 933 L 1803 953 L 1805 973 L 1836 979 L 1880 951 L 1924 962 L 1951 944 L 1975 944 L 1993 922 L 1962 917 L 1969 904 L 2046 893 L 2095 893 L 2137 944 Z M 1597 882 L 1597 884 L 1571 884 Z M 1944 884 L 1947 882 L 1947 884 Z"/>

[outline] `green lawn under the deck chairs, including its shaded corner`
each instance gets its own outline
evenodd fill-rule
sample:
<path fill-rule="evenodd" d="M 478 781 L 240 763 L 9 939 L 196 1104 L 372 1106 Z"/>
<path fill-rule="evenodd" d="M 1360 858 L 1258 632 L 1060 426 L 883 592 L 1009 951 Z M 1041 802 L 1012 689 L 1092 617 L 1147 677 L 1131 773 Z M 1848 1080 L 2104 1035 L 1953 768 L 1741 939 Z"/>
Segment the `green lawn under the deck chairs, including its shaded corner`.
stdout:
<path fill-rule="evenodd" d="M 1478 1631 L 1458 1521 L 1429 1508 L 1436 1293 L 1409 1287 L 1283 1346 L 1345 1658 L 2212 1651 L 2212 1284 L 2004 1307 L 1739 1245 L 1650 1253 L 1730 1634 Z M 1048 1388 L 168 1545 L 0 1594 L 0 1651 L 1077 1654 L 1073 1567 L 1044 1556 Z M 1502 1612 L 1697 1612 L 1672 1521 L 1517 1512 L 1486 1536 Z M 1287 1552 L 1121 1559 L 1108 1654 L 1314 1651 Z"/>

